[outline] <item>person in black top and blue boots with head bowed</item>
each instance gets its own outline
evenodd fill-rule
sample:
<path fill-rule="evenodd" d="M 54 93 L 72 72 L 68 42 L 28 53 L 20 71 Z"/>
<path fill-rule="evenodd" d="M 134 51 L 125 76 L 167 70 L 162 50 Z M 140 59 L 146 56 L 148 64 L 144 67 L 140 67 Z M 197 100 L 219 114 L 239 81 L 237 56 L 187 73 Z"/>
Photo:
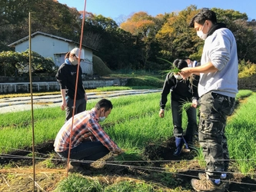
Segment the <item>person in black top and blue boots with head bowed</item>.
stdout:
<path fill-rule="evenodd" d="M 188 67 L 188 63 L 182 59 L 176 59 L 173 62 L 175 68 L 182 69 Z M 161 92 L 159 117 L 165 117 L 165 104 L 168 94 L 171 91 L 171 113 L 174 125 L 174 136 L 176 151 L 175 156 L 182 152 L 183 144 L 193 144 L 194 131 L 197 129 L 196 108 L 198 106 L 198 80 L 199 76 L 194 75 L 187 79 L 181 78 L 179 74 L 169 72 L 165 78 L 165 84 Z M 185 136 L 182 128 L 182 105 L 185 102 L 192 102 L 191 107 L 186 109 L 188 115 L 188 125 Z"/>

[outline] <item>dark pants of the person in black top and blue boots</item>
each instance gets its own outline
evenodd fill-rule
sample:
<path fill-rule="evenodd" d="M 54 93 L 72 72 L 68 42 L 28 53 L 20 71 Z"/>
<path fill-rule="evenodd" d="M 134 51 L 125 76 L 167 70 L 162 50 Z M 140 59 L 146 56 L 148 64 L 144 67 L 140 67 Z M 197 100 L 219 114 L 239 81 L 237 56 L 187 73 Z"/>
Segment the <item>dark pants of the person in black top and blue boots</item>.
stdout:
<path fill-rule="evenodd" d="M 182 103 L 178 101 L 171 100 L 171 113 L 172 113 L 172 121 L 176 127 L 182 127 Z M 192 138 L 194 136 L 194 131 L 197 128 L 197 111 L 196 108 L 188 108 L 186 111 L 188 116 L 188 124 L 186 130 L 186 137 L 188 138 L 187 142 L 192 142 Z M 181 132 L 183 130 L 181 129 Z"/>

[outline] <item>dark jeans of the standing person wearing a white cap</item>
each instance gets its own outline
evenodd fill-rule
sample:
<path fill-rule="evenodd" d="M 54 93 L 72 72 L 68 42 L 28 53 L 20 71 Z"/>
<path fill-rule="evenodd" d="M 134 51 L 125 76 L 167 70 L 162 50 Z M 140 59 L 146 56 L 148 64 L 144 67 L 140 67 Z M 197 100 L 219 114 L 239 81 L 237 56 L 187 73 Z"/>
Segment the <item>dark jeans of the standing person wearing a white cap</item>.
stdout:
<path fill-rule="evenodd" d="M 66 121 L 68 121 L 68 119 L 72 117 L 73 105 L 74 105 L 74 99 L 71 99 L 68 97 L 67 108 L 66 108 Z M 85 111 L 85 109 L 86 109 L 85 98 L 75 100 L 75 114 L 81 113 L 82 111 Z"/>

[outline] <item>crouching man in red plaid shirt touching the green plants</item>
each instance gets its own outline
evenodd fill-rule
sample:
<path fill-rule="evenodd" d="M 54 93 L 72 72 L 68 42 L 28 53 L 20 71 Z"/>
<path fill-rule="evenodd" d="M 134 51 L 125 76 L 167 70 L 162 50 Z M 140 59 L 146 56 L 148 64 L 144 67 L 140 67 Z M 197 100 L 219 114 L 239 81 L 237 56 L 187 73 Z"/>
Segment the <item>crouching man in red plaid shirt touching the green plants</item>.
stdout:
<path fill-rule="evenodd" d="M 111 101 L 101 99 L 91 111 L 76 114 L 73 127 L 70 118 L 58 131 L 54 147 L 60 157 L 68 158 L 69 144 L 71 144 L 68 171 L 88 174 L 89 171 L 86 172 L 85 167 L 90 167 L 91 162 L 104 157 L 110 151 L 115 154 L 123 153 L 98 124 L 99 121 L 108 118 L 112 108 Z M 89 163 L 81 163 L 81 161 L 89 161 Z"/>

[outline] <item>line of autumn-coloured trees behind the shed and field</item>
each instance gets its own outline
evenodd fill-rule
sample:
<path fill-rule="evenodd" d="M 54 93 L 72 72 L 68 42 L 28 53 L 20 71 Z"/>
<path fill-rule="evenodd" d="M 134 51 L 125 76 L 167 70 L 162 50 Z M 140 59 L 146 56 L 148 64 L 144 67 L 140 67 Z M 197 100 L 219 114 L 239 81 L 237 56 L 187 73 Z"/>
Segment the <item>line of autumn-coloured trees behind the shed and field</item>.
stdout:
<path fill-rule="evenodd" d="M 76 8 L 56 0 L 0 0 L 0 8 L 0 51 L 12 50 L 9 44 L 28 35 L 28 12 L 32 15 L 32 33 L 42 31 L 80 41 L 83 12 Z M 246 13 L 232 9 L 212 10 L 217 13 L 218 22 L 233 31 L 239 60 L 256 63 L 255 19 L 248 21 Z M 195 5 L 155 17 L 136 12 L 120 25 L 111 18 L 86 12 L 83 44 L 98 50 L 94 55 L 112 70 L 165 70 L 170 65 L 163 59 L 200 60 L 204 42 L 188 26 L 197 12 Z"/>

